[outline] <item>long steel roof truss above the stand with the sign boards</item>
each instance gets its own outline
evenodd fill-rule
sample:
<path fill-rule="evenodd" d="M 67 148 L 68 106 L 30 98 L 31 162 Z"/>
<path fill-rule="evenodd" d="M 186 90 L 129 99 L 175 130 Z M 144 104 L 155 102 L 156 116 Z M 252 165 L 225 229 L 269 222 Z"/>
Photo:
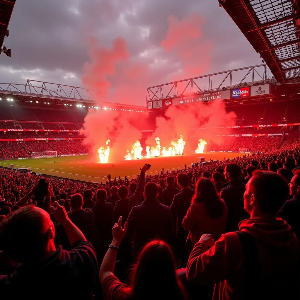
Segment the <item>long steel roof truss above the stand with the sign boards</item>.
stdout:
<path fill-rule="evenodd" d="M 236 78 L 238 78 L 239 81 Z M 237 88 L 244 83 L 244 80 L 247 81 L 247 85 L 251 85 L 254 82 L 266 83 L 268 81 L 266 64 L 259 64 L 155 85 L 147 88 L 146 101 L 175 98 L 199 92 L 204 93 L 208 91 L 219 91 L 222 90 L 223 87 L 226 89 Z"/>

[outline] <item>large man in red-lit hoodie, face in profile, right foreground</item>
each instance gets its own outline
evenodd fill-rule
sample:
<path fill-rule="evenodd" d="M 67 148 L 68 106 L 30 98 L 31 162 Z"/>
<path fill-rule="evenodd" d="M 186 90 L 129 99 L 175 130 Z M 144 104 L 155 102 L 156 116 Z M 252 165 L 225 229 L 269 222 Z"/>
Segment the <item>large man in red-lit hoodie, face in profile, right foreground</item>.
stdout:
<path fill-rule="evenodd" d="M 299 241 L 286 221 L 276 218 L 288 194 L 280 175 L 253 172 L 244 193 L 250 219 L 216 242 L 202 235 L 190 254 L 187 279 L 215 284 L 213 299 L 298 299 Z"/>

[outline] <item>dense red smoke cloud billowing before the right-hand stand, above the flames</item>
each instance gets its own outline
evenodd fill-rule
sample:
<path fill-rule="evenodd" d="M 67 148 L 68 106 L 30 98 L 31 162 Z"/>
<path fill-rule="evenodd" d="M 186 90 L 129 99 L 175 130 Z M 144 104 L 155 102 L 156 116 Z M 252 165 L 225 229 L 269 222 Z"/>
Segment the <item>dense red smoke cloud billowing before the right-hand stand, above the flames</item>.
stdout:
<path fill-rule="evenodd" d="M 183 135 L 187 141 L 184 153 L 191 154 L 197 148 L 199 139 L 205 139 L 208 143 L 223 143 L 223 137 L 215 136 L 219 134 L 219 129 L 215 127 L 225 127 L 222 134 L 230 134 L 231 130 L 226 126 L 234 126 L 235 119 L 234 112 L 226 112 L 222 100 L 199 103 L 196 106 L 169 107 L 165 116 L 156 118 L 157 128 L 146 140 L 146 144 L 154 146 L 154 139 L 159 137 L 162 146 L 169 146 L 171 141 L 177 141 Z"/>

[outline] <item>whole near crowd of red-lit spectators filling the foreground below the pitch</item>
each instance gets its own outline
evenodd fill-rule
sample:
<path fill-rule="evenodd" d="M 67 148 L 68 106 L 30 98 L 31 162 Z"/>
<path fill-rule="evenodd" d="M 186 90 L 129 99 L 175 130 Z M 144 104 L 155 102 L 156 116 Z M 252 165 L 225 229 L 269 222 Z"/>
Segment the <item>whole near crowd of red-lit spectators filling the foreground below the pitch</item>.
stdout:
<path fill-rule="evenodd" d="M 0 168 L 1 298 L 298 299 L 299 145 L 100 184 Z"/>

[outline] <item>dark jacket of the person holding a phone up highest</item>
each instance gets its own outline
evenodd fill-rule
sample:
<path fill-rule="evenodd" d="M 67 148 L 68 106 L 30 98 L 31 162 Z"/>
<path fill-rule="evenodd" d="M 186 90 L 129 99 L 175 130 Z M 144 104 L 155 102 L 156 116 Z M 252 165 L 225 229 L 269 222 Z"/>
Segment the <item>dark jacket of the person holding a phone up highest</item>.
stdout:
<path fill-rule="evenodd" d="M 115 208 L 113 210 L 113 222 L 117 223 L 119 217 L 122 216 L 122 226 L 126 222 L 131 208 L 140 204 L 140 199 L 143 196 L 143 191 L 145 187 L 145 172 L 141 172 L 139 181 L 137 183 L 137 188 L 134 194 L 127 199 L 119 200 L 116 202 Z"/>

